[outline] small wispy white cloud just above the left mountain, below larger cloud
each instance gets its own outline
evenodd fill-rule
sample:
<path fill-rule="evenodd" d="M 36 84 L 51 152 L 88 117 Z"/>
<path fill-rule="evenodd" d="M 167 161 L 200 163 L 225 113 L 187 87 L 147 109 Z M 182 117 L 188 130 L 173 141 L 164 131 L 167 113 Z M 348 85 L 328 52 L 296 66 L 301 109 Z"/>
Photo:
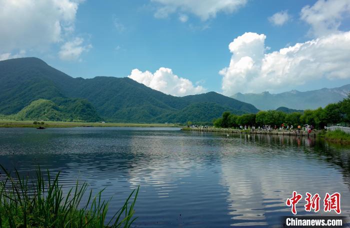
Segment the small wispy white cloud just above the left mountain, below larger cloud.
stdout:
<path fill-rule="evenodd" d="M 84 39 L 75 37 L 71 41 L 65 42 L 58 52 L 58 56 L 62 60 L 81 60 L 80 55 L 82 52 L 87 52 L 92 48 L 91 44 L 83 45 Z"/>

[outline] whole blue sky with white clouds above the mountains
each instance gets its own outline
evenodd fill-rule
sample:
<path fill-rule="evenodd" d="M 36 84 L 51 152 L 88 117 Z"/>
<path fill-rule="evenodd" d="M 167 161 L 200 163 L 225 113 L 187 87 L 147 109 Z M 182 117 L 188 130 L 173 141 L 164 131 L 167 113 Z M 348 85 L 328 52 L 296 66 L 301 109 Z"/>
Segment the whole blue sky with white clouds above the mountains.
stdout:
<path fill-rule="evenodd" d="M 350 46 L 346 33 L 350 30 L 349 0 L 221 1 L 227 5 L 220 4 L 220 0 L 52 1 L 56 4 L 53 8 L 41 0 L 30 6 L 23 0 L 18 0 L 23 5 L 0 0 L 7 6 L 2 9 L 0 30 L 8 37 L 0 37 L 1 59 L 37 56 L 73 77 L 130 75 L 174 95 L 212 90 L 225 95 L 282 92 L 350 83 L 346 66 L 350 54 L 342 54 Z M 342 7 L 336 6 L 339 4 Z M 303 10 L 305 7 L 307 10 Z M 271 16 L 275 13 L 281 17 L 273 21 Z M 315 20 L 320 15 L 322 21 Z M 22 20 L 12 26 L 15 16 Z M 59 29 L 52 29 L 57 21 Z M 245 32 L 252 33 L 242 36 Z M 264 37 L 258 36 L 261 34 Z M 344 49 L 336 41 L 339 35 Z M 228 45 L 234 38 L 237 40 L 232 45 L 236 47 L 230 52 Z M 291 58 L 283 55 L 268 60 L 262 56 L 315 39 L 324 42 L 304 44 L 305 50 L 293 51 Z M 335 51 L 329 50 L 333 48 Z M 238 52 L 247 53 L 239 56 Z M 313 59 L 314 55 L 317 56 Z M 325 59 L 328 55 L 334 58 Z M 295 63 L 300 58 L 312 60 L 310 64 Z M 286 68 L 291 62 L 292 66 Z M 339 63 L 320 67 L 334 62 Z M 273 69 L 264 69 L 269 65 Z"/>

